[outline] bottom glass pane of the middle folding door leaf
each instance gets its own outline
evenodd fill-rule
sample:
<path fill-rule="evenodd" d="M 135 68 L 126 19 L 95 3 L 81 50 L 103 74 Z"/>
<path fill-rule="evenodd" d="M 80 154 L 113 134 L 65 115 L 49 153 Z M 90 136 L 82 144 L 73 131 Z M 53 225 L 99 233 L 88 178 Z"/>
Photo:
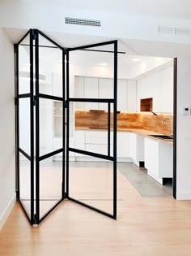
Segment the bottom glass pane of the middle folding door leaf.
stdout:
<path fill-rule="evenodd" d="M 54 159 L 40 161 L 40 218 L 62 198 L 62 154 Z"/>

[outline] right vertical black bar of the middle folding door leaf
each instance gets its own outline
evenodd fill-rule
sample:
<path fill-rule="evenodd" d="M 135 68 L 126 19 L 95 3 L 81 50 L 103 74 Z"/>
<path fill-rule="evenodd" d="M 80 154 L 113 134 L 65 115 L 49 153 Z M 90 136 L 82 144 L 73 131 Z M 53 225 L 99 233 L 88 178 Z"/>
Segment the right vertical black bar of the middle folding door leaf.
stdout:
<path fill-rule="evenodd" d="M 65 49 L 62 49 L 62 199 L 65 197 L 65 153 L 66 153 L 66 129 L 65 129 L 65 102 L 66 102 L 66 92 L 65 92 Z"/>

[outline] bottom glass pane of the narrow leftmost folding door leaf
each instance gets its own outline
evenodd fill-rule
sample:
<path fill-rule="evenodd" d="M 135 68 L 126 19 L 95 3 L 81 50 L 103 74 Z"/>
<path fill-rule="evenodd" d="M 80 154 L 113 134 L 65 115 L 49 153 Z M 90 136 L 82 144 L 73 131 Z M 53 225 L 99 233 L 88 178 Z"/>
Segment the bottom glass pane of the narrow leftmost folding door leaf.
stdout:
<path fill-rule="evenodd" d="M 20 201 L 31 216 L 31 162 L 19 153 Z"/>

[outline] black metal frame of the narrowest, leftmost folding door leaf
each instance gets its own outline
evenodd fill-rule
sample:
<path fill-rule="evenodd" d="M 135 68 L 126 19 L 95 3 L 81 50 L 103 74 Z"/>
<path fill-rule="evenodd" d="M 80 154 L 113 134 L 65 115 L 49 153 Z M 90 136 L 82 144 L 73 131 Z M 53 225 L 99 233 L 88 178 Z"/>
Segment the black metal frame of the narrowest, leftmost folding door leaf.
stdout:
<path fill-rule="evenodd" d="M 19 94 L 19 45 L 21 42 L 29 36 L 29 49 L 30 49 L 30 93 Z M 14 45 L 15 49 L 15 165 L 16 165 L 16 197 L 22 206 L 24 213 L 26 214 L 30 223 L 34 221 L 34 111 L 33 111 L 33 47 L 32 47 L 33 31 L 30 29 L 26 33 L 18 44 Z M 19 99 L 30 98 L 30 155 L 22 150 L 19 146 Z M 19 193 L 19 153 L 23 154 L 25 158 L 30 161 L 30 172 L 31 172 L 31 212 L 28 215 L 28 210 L 23 205 L 20 199 Z"/>

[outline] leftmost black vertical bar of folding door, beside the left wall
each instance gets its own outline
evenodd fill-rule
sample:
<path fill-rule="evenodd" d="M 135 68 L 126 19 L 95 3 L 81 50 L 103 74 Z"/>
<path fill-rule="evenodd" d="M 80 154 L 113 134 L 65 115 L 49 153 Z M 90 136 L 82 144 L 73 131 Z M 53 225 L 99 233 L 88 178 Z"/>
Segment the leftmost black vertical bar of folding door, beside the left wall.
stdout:
<path fill-rule="evenodd" d="M 16 197 L 19 199 L 19 46 L 15 45 L 15 171 Z"/>

